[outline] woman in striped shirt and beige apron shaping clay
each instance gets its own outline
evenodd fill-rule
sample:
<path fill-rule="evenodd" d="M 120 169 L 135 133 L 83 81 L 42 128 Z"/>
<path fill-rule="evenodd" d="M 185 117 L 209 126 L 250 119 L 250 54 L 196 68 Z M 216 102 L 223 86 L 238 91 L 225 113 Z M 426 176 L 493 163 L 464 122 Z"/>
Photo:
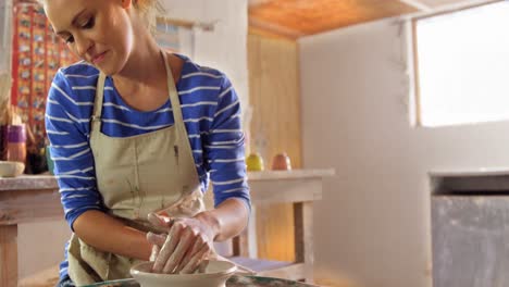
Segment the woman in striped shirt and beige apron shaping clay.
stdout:
<path fill-rule="evenodd" d="M 46 127 L 73 236 L 60 286 L 195 272 L 247 224 L 237 96 L 226 76 L 156 43 L 154 0 L 44 0 L 82 62 L 61 68 Z M 215 209 L 203 211 L 213 183 Z M 69 262 L 69 263 L 67 263 Z"/>

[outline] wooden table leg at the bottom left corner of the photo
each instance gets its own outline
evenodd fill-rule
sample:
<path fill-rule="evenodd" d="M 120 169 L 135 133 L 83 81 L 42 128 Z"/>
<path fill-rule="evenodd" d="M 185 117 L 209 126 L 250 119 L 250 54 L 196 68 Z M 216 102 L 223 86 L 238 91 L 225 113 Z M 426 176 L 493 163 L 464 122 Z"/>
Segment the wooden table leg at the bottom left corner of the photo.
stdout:
<path fill-rule="evenodd" d="M 0 225 L 0 286 L 17 286 L 17 225 Z"/>

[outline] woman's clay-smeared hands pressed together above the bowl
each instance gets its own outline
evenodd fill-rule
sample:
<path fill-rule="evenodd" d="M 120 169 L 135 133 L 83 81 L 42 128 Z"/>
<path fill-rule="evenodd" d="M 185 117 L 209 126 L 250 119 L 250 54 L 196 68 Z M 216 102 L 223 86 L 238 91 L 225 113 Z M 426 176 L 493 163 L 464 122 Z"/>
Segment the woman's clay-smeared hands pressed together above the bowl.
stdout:
<path fill-rule="evenodd" d="M 196 217 L 169 219 L 153 213 L 148 220 L 167 230 L 166 235 L 147 234 L 148 241 L 159 251 L 152 252 L 154 273 L 194 273 L 204 269 L 214 239 L 210 225 Z"/>

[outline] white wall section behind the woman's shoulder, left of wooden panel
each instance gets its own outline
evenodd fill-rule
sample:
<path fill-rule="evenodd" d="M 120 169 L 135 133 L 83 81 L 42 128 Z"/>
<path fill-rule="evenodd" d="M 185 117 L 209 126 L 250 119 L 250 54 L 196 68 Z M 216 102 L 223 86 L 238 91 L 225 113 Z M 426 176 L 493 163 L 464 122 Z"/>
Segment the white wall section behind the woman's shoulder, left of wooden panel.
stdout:
<path fill-rule="evenodd" d="M 161 0 L 167 17 L 216 22 L 213 32 L 196 29 L 194 59 L 219 68 L 232 80 L 243 107 L 249 103 L 247 74 L 247 0 Z"/>

